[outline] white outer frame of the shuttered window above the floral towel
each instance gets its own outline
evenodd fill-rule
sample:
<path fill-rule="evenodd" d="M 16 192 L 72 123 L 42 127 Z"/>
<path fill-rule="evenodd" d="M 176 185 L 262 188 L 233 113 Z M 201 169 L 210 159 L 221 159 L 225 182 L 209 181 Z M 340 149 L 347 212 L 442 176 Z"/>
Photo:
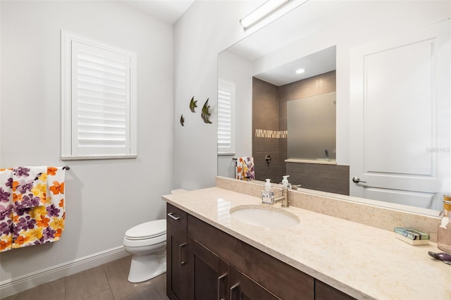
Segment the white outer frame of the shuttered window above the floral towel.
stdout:
<path fill-rule="evenodd" d="M 112 51 L 130 58 L 130 104 L 128 113 L 128 148 L 123 154 L 73 154 L 72 43 L 73 41 Z M 98 149 L 98 148 L 97 148 Z M 137 157 L 137 55 L 135 52 L 81 37 L 61 30 L 61 159 L 108 159 Z"/>

